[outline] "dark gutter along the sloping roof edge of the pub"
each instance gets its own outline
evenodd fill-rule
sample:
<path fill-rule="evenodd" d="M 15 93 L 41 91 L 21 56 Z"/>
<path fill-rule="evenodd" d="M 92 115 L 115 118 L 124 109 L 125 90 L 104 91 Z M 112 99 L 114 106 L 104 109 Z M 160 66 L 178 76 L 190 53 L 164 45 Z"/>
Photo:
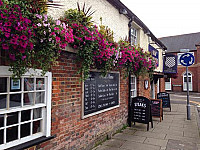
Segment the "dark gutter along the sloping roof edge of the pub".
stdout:
<path fill-rule="evenodd" d="M 148 34 L 151 39 L 157 44 L 159 47 L 162 48 L 162 50 L 167 50 L 167 47 L 160 41 L 158 40 L 155 35 L 149 30 L 149 28 L 128 8 L 126 7 L 120 0 L 107 0 L 111 5 L 113 5 L 115 8 L 119 10 L 124 10 L 125 16 L 130 19 L 130 21 L 134 21 L 137 23 L 146 34 Z M 129 21 L 129 24 L 130 24 Z"/>

